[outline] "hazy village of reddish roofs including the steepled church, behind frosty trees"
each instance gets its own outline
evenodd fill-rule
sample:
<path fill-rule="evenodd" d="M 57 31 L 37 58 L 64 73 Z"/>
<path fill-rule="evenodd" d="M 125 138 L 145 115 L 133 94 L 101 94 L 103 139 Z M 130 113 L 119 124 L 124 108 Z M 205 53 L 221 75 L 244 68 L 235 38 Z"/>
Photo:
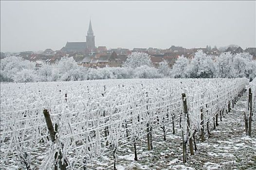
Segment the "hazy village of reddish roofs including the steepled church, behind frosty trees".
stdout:
<path fill-rule="evenodd" d="M 122 67 L 131 52 L 145 52 L 149 55 L 151 62 L 155 68 L 159 67 L 162 61 L 166 61 L 170 68 L 172 68 L 175 61 L 184 56 L 192 59 L 198 50 L 202 50 L 213 59 L 221 52 L 231 52 L 232 54 L 240 52 L 249 52 L 254 59 L 256 59 L 256 48 L 246 48 L 230 46 L 224 51 L 220 51 L 216 46 L 206 46 L 206 48 L 186 49 L 184 47 L 177 47 L 172 45 L 168 49 L 157 48 L 133 48 L 132 50 L 126 48 L 107 49 L 106 46 L 95 47 L 95 36 L 92 30 L 90 20 L 89 29 L 86 36 L 86 42 L 67 42 L 60 50 L 46 49 L 44 51 L 22 51 L 13 53 L 12 55 L 20 56 L 23 59 L 36 62 L 37 68 L 40 68 L 43 63 L 55 64 L 62 57 L 73 57 L 77 65 L 87 68 L 105 68 L 105 67 Z M 4 58 L 8 54 L 1 52 L 0 58 Z M 10 55 L 10 54 L 9 54 Z"/>

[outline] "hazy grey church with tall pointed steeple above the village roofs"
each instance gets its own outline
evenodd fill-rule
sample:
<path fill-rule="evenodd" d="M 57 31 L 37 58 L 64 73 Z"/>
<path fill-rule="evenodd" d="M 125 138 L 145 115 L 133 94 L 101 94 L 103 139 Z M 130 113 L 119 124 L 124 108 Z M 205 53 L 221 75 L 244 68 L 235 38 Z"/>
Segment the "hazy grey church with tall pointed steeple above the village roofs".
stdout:
<path fill-rule="evenodd" d="M 95 40 L 91 27 L 91 19 L 90 25 L 86 36 L 86 42 L 67 42 L 66 46 L 63 47 L 60 51 L 65 53 L 91 53 L 95 50 Z"/>

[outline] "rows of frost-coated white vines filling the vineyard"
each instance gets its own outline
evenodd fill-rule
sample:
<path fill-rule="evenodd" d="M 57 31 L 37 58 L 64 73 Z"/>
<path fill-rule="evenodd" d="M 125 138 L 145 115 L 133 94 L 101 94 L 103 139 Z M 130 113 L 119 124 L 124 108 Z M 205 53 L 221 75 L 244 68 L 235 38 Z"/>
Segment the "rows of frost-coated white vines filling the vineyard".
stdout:
<path fill-rule="evenodd" d="M 119 151 L 129 148 L 137 160 L 139 148 L 152 150 L 154 140 L 168 135 L 183 143 L 179 154 L 186 162 L 198 140 L 207 141 L 209 126 L 218 126 L 248 93 L 248 85 L 246 78 L 1 84 L 0 167 L 86 170 L 105 157 L 116 168 L 118 156 L 127 154 Z M 241 110 L 248 121 L 256 80 L 250 86 L 252 102 Z"/>

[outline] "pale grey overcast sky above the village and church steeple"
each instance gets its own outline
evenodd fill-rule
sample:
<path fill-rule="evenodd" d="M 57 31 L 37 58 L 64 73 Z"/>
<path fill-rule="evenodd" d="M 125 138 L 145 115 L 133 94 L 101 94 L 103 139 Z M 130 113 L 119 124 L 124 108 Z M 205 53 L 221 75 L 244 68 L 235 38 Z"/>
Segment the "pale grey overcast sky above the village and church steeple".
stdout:
<path fill-rule="evenodd" d="M 256 1 L 0 1 L 1 51 L 60 50 L 85 41 L 91 16 L 95 46 L 256 47 Z"/>

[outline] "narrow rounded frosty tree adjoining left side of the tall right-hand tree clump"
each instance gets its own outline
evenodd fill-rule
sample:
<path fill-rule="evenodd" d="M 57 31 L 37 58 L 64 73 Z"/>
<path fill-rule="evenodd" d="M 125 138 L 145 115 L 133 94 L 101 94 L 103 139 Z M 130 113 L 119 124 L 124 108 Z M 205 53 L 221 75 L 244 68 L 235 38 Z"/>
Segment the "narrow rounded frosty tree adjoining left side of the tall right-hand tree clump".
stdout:
<path fill-rule="evenodd" d="M 171 75 L 173 78 L 185 78 L 186 77 L 186 69 L 189 61 L 183 55 L 180 56 L 174 63 Z"/>

